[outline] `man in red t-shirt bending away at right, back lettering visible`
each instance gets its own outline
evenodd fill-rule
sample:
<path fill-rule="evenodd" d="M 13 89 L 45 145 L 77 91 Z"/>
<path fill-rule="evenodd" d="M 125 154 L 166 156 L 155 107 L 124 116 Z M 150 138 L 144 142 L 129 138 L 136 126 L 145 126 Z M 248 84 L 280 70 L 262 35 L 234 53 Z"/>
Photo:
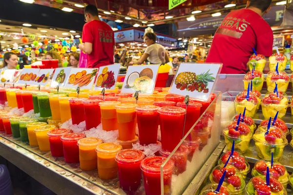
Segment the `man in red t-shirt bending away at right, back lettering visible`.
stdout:
<path fill-rule="evenodd" d="M 262 18 L 272 0 L 249 0 L 244 9 L 230 12 L 214 35 L 206 62 L 223 63 L 222 74 L 245 74 L 255 48 L 257 54 L 272 55 L 273 34 Z"/>

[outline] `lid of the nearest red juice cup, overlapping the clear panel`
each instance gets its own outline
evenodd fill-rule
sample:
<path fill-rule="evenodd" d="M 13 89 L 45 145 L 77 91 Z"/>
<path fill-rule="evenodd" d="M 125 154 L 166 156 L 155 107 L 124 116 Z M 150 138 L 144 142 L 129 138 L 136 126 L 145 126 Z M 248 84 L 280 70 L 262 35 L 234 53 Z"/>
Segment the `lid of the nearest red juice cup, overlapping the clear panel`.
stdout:
<path fill-rule="evenodd" d="M 141 169 L 145 172 L 160 173 L 162 164 L 166 161 L 166 157 L 163 156 L 151 156 L 143 159 L 141 162 Z M 168 160 L 163 167 L 164 172 L 172 172 L 174 168 L 174 162 Z"/>

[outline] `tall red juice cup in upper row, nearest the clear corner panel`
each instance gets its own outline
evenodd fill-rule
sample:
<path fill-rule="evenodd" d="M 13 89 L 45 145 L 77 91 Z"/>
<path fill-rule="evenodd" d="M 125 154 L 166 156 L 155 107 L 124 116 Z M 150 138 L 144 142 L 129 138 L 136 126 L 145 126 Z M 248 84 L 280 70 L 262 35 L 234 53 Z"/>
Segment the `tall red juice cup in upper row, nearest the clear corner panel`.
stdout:
<path fill-rule="evenodd" d="M 183 136 L 186 110 L 176 106 L 165 106 L 158 110 L 161 124 L 163 150 L 173 151 Z"/>

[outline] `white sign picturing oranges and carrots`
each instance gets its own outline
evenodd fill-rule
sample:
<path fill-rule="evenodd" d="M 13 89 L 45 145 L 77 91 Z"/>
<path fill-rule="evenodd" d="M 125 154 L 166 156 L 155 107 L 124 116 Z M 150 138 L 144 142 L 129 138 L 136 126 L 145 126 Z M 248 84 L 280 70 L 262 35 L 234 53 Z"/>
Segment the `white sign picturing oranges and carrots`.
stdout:
<path fill-rule="evenodd" d="M 71 68 L 65 87 L 92 89 L 98 69 L 93 68 Z"/>

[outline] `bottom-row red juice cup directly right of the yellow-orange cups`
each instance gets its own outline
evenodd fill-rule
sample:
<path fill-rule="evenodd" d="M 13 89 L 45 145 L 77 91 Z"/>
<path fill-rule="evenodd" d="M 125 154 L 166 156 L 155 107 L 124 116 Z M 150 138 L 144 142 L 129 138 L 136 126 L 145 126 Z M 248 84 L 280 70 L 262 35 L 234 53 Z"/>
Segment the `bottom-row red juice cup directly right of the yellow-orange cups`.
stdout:
<path fill-rule="evenodd" d="M 47 132 L 49 137 L 51 155 L 54 157 L 63 156 L 63 142 L 61 137 L 65 134 L 69 134 L 69 129 L 52 129 Z"/>

